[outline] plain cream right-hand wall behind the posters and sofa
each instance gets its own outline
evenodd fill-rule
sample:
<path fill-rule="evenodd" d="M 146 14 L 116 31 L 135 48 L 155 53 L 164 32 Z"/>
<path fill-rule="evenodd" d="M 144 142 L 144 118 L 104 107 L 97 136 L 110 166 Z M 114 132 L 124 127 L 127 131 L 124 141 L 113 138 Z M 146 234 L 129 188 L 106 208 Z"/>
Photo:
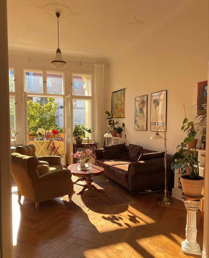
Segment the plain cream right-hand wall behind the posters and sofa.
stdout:
<path fill-rule="evenodd" d="M 193 84 L 207 80 L 208 1 L 203 0 L 110 64 L 105 110 L 111 110 L 111 92 L 125 90 L 127 143 L 162 151 L 164 141 L 150 140 L 150 94 L 167 90 L 167 150 L 175 152 L 185 133 L 187 116 L 193 119 Z M 134 131 L 134 98 L 148 94 L 148 131 Z"/>

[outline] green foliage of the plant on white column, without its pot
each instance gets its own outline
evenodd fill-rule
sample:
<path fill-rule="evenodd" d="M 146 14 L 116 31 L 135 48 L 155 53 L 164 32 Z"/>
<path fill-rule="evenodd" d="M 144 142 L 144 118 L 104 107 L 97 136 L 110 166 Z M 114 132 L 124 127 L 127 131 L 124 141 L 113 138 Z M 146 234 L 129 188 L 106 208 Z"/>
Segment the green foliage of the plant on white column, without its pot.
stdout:
<path fill-rule="evenodd" d="M 187 132 L 187 137 L 184 139 L 182 145 L 177 146 L 177 148 L 181 148 L 174 154 L 173 162 L 171 164 L 171 169 L 173 172 L 182 168 L 181 174 L 188 172 L 191 179 L 199 178 L 199 161 L 197 159 L 195 147 L 188 148 L 187 150 L 185 150 L 184 147 L 186 147 L 186 145 L 190 142 L 193 142 L 193 146 L 195 146 L 194 138 L 197 132 L 194 131 L 194 125 L 196 125 L 194 122 L 188 122 L 187 117 L 183 120 L 181 130 Z"/>

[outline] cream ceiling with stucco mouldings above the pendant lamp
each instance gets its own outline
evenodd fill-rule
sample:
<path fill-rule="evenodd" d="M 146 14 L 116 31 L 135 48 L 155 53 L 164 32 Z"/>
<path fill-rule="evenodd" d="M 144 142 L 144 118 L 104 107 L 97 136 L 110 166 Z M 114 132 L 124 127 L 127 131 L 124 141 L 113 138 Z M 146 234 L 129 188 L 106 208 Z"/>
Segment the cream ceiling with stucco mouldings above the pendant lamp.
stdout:
<path fill-rule="evenodd" d="M 9 53 L 109 63 L 199 0 L 8 0 Z"/>

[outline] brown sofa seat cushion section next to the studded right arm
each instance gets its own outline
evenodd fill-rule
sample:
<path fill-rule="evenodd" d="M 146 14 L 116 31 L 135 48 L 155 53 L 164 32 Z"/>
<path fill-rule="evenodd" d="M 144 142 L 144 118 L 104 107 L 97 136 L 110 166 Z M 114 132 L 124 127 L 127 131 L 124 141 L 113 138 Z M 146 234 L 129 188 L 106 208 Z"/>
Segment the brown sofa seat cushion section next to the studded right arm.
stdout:
<path fill-rule="evenodd" d="M 109 167 L 110 178 L 128 188 L 128 168 L 129 164 Z"/>

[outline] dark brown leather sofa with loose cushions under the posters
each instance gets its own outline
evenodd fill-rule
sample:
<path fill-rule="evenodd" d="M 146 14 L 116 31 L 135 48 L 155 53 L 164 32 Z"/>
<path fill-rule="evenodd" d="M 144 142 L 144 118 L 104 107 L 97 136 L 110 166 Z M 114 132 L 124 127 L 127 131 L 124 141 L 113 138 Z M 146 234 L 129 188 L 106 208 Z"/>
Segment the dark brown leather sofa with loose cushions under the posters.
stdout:
<path fill-rule="evenodd" d="M 125 148 L 124 148 L 125 147 Z M 120 154 L 117 150 L 119 149 Z M 104 158 L 107 150 L 113 154 L 111 158 Z M 146 150 L 141 146 L 129 144 L 104 146 L 103 149 L 95 150 L 96 164 L 102 166 L 104 174 L 127 188 L 134 197 L 135 193 L 145 190 L 164 190 L 165 168 L 164 152 Z M 105 155 L 104 155 L 105 154 Z M 114 158 L 114 154 L 117 158 Z M 140 160 L 138 161 L 140 157 Z M 173 155 L 167 154 L 167 187 L 171 189 L 174 184 L 174 174 L 171 170 Z"/>

